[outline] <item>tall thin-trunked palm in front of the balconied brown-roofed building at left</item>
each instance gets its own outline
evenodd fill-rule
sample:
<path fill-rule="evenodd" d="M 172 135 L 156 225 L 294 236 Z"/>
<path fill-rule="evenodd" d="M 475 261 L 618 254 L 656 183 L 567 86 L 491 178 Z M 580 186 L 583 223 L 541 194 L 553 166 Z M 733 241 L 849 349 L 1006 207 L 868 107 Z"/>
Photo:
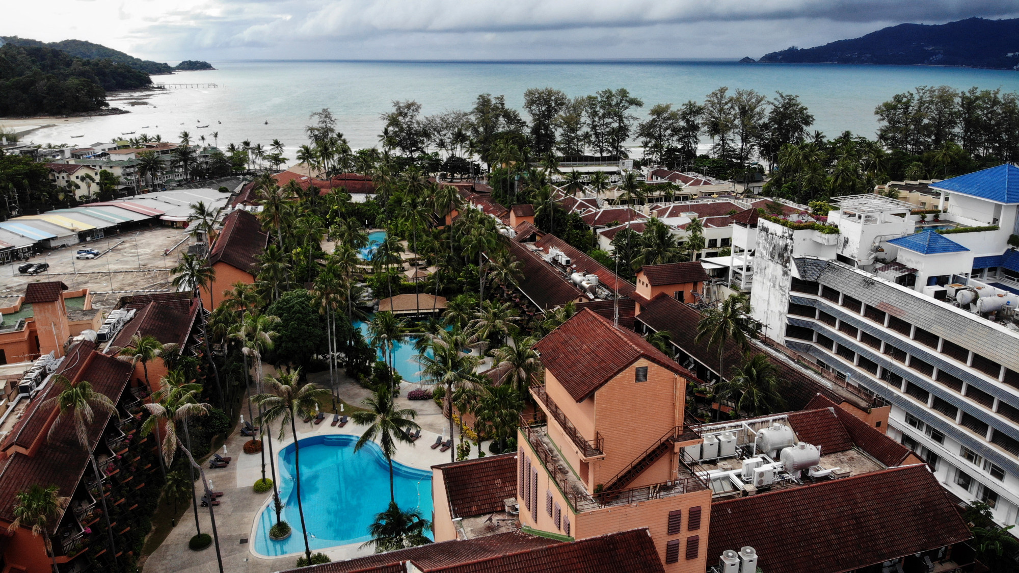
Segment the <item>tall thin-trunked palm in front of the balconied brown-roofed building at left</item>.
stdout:
<path fill-rule="evenodd" d="M 96 474 L 96 483 L 99 484 L 99 499 L 103 504 L 103 516 L 106 520 L 106 531 L 110 541 L 110 555 L 116 555 L 116 543 L 113 541 L 113 526 L 110 524 L 110 511 L 106 507 L 106 489 L 102 484 L 102 474 L 99 473 L 99 466 L 96 464 L 96 455 L 89 444 L 89 425 L 92 424 L 95 414 L 94 410 L 111 414 L 116 411 L 116 406 L 105 394 L 92 389 L 89 380 L 78 380 L 71 382 L 63 375 L 53 377 L 53 384 L 59 388 L 57 396 L 43 403 L 42 408 L 50 409 L 57 407 L 57 417 L 50 425 L 50 431 L 46 435 L 47 440 L 52 440 L 56 434 L 60 422 L 70 418 L 74 424 L 74 433 L 82 449 L 89 454 L 89 461 L 92 462 L 92 471 Z"/>

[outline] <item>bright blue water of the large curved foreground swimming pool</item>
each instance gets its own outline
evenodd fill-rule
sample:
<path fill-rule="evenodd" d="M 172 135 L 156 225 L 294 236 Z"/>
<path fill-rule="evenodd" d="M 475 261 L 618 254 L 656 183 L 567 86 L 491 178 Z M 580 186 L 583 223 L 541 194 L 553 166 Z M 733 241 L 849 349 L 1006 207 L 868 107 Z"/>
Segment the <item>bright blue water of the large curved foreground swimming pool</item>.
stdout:
<path fill-rule="evenodd" d="M 370 539 L 368 525 L 375 514 L 389 504 L 389 469 L 382 451 L 369 442 L 354 453 L 356 435 L 316 435 L 301 440 L 301 501 L 312 551 L 363 543 Z M 282 541 L 269 538 L 276 519 L 272 505 L 262 510 L 255 531 L 255 551 L 264 556 L 281 556 L 305 551 L 293 487 L 293 445 L 279 452 L 281 488 L 286 507 L 283 519 L 293 533 Z M 393 462 L 396 503 L 405 511 L 418 509 L 432 518 L 432 472 Z M 428 534 L 431 537 L 431 533 Z"/>

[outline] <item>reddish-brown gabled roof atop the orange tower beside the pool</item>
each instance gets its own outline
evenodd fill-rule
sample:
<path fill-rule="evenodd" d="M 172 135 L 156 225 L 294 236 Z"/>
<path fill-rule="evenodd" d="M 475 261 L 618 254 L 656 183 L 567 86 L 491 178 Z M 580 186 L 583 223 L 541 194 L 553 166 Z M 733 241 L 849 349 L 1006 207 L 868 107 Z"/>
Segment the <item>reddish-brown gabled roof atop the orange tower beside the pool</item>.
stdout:
<path fill-rule="evenodd" d="M 640 358 L 681 375 L 686 368 L 633 330 L 584 309 L 534 345 L 545 368 L 577 402 L 594 394 L 605 382 Z"/>

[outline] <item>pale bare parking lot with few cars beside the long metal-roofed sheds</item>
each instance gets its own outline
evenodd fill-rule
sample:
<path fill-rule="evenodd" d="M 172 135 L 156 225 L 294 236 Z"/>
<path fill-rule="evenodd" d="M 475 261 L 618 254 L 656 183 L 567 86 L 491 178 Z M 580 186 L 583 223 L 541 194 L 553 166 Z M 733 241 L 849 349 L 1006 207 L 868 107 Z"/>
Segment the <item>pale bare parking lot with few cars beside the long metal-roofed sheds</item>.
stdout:
<path fill-rule="evenodd" d="M 186 239 L 183 244 L 163 256 L 166 249 L 172 249 L 183 239 Z M 28 283 L 48 280 L 62 280 L 70 290 L 89 289 L 93 293 L 93 306 L 102 309 L 113 308 L 120 297 L 131 293 L 166 291 L 170 289 L 170 269 L 192 242 L 183 229 L 152 227 L 44 250 L 28 261 L 49 263 L 50 268 L 39 274 L 19 273 L 17 267 L 25 261 L 0 266 L 3 277 L 0 306 L 12 302 L 11 297 L 23 295 Z M 92 260 L 76 259 L 74 255 L 82 249 L 96 249 L 105 254 Z"/>

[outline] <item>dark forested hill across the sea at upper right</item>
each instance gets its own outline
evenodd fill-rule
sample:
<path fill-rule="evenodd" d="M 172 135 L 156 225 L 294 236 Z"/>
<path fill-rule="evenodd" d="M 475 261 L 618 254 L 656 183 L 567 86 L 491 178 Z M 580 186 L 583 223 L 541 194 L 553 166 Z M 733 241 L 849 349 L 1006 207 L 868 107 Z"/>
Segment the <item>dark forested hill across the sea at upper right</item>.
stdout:
<path fill-rule="evenodd" d="M 1019 69 L 1019 18 L 967 18 L 933 25 L 902 23 L 853 40 L 771 52 L 758 61 Z"/>

